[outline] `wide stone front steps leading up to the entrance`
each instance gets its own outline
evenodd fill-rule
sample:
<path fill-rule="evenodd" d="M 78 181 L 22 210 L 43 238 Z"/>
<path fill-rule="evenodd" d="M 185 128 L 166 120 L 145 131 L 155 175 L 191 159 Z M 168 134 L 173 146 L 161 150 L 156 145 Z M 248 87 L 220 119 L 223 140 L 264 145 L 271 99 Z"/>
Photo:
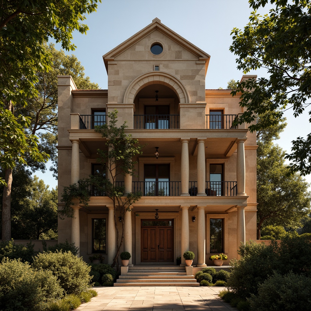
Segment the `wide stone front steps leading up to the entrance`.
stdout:
<path fill-rule="evenodd" d="M 124 267 L 127 268 L 127 267 Z M 185 267 L 134 266 L 121 270 L 114 286 L 200 286 Z"/>

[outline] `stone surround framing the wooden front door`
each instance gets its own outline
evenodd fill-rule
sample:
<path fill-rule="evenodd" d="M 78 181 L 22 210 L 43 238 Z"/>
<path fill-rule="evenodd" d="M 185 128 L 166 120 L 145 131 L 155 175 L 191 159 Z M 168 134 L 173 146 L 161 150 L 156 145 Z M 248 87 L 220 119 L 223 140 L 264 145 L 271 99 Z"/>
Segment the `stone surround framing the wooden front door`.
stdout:
<path fill-rule="evenodd" d="M 156 208 L 156 206 L 154 207 Z M 161 211 L 162 210 L 162 211 Z M 174 264 L 176 265 L 176 257 L 179 255 L 180 252 L 180 246 L 179 246 L 179 212 L 165 212 L 165 207 L 160 208 L 158 213 L 159 213 L 159 220 L 161 219 L 174 219 Z M 152 210 L 150 212 L 135 212 L 135 227 L 136 227 L 136 240 L 135 240 L 135 245 L 136 245 L 136 265 L 146 265 L 146 264 L 152 264 L 152 265 L 157 265 L 157 264 L 163 264 L 161 262 L 141 262 L 141 220 L 142 219 L 150 219 L 154 220 L 155 219 L 155 213 L 156 210 Z M 173 262 L 172 262 L 173 264 Z"/>

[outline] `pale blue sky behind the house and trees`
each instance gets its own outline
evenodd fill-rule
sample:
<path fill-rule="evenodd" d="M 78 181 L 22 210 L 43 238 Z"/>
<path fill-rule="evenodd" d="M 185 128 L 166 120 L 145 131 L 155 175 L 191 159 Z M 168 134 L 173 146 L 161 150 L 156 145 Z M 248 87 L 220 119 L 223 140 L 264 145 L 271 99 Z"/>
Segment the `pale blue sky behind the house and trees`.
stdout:
<path fill-rule="evenodd" d="M 271 6 L 258 11 L 269 12 Z M 102 0 L 97 12 L 86 16 L 89 26 L 86 35 L 74 33 L 73 43 L 77 46 L 74 54 L 85 68 L 86 76 L 98 83 L 101 89 L 107 89 L 107 73 L 102 56 L 128 39 L 157 17 L 167 27 L 211 55 L 206 88 L 226 88 L 230 79 L 240 80 L 243 72 L 236 68 L 236 56 L 229 51 L 234 27 L 243 29 L 248 23 L 251 8 L 247 0 Z M 53 42 L 53 41 L 52 41 Z M 60 44 L 56 45 L 61 49 Z M 258 77 L 266 75 L 264 71 L 254 71 Z M 287 127 L 277 143 L 290 152 L 291 141 L 298 136 L 306 137 L 310 132 L 308 115 L 299 118 L 286 112 Z M 48 165 L 49 166 L 49 165 Z M 36 172 L 50 188 L 57 181 L 47 170 L 45 174 Z M 311 182 L 311 176 L 306 178 Z"/>

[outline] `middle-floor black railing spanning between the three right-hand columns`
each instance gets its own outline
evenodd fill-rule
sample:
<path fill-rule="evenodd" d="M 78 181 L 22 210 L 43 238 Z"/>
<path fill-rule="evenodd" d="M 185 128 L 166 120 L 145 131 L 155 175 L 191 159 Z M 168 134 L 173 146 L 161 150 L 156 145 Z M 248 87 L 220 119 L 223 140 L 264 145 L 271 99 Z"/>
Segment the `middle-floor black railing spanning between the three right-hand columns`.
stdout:
<path fill-rule="evenodd" d="M 208 197 L 218 196 L 236 196 L 237 194 L 237 182 L 236 181 L 207 181 L 205 184 L 205 193 Z M 189 194 L 190 196 L 197 195 L 197 182 L 189 182 Z"/>

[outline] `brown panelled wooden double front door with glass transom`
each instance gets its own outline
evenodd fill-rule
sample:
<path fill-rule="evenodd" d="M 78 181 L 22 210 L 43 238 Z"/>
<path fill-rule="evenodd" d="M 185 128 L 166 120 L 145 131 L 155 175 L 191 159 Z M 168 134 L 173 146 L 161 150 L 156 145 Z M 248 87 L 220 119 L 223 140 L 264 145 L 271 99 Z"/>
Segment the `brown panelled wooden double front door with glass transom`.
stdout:
<path fill-rule="evenodd" d="M 174 262 L 173 220 L 142 220 L 141 262 Z"/>

